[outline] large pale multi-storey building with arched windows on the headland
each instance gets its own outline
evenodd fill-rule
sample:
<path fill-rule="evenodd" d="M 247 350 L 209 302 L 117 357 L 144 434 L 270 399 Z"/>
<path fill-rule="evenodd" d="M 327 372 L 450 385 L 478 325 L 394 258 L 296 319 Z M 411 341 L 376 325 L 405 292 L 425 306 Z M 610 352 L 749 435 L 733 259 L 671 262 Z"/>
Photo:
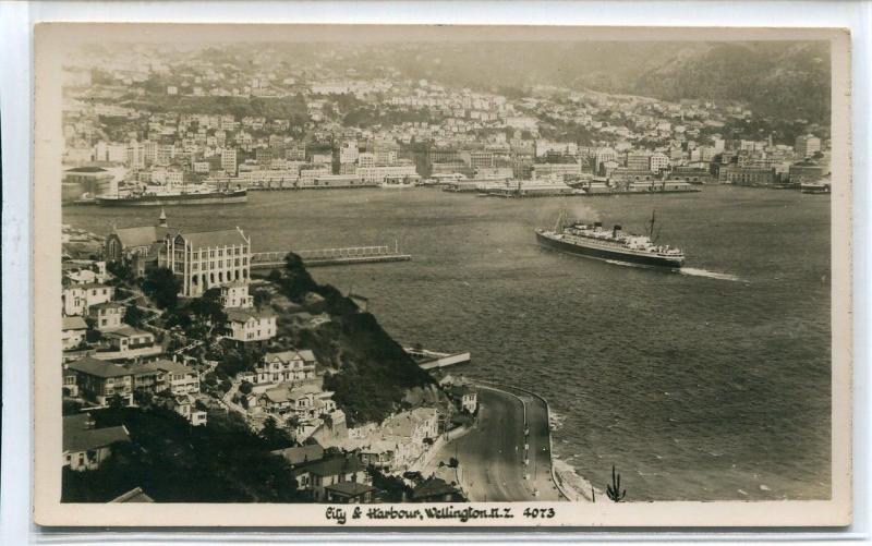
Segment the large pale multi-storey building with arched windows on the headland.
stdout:
<path fill-rule="evenodd" d="M 158 265 L 181 278 L 179 295 L 194 298 L 250 278 L 251 239 L 239 228 L 180 232 L 168 235 Z"/>

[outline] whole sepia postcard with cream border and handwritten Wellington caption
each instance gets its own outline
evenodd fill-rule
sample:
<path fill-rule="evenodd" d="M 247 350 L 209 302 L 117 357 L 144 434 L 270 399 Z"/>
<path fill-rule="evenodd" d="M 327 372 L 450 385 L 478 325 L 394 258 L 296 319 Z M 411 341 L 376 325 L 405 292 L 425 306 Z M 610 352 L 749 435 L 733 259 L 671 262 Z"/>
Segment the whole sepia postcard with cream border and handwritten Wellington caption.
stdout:
<path fill-rule="evenodd" d="M 38 25 L 37 523 L 850 523 L 848 44 Z"/>

